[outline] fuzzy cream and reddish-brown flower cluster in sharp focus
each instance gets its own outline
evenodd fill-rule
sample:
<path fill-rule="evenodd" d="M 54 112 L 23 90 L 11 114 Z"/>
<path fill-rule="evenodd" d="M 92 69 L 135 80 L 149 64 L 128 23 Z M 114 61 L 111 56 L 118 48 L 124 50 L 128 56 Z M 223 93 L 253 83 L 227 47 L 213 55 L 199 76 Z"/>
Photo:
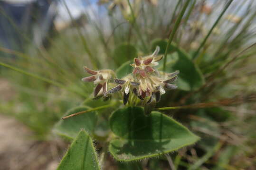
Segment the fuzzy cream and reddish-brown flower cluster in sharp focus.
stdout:
<path fill-rule="evenodd" d="M 179 71 L 165 73 L 155 68 L 158 65 L 158 61 L 163 57 L 158 55 L 159 50 L 160 48 L 157 46 L 152 55 L 134 58 L 134 63 L 131 64 L 133 72 L 122 79 L 114 79 L 117 85 L 110 90 L 107 89 L 107 83 L 112 78 L 115 78 L 112 70 L 94 71 L 84 67 L 92 76 L 85 77 L 82 80 L 85 82 L 94 81 L 96 85 L 94 96 L 98 94 L 108 96 L 122 91 L 124 105 L 128 102 L 130 93 L 133 93 L 141 100 L 148 99 L 147 103 L 151 103 L 153 100 L 159 102 L 161 94 L 164 94 L 165 90 L 177 88 L 172 83 L 175 82 L 179 74 Z"/>

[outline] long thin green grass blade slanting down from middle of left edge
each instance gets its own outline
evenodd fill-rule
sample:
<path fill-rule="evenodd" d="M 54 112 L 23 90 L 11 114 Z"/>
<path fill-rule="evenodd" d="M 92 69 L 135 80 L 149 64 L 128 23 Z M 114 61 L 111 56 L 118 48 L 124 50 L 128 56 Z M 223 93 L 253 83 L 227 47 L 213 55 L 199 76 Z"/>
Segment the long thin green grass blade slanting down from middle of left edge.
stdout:
<path fill-rule="evenodd" d="M 24 75 L 32 76 L 32 77 L 34 77 L 34 78 L 37 78 L 38 80 L 47 82 L 47 83 L 52 84 L 52 85 L 55 85 L 55 86 L 57 86 L 57 87 L 64 88 L 64 89 L 66 89 L 66 90 L 68 90 L 68 91 L 70 91 L 70 92 L 72 92 L 72 93 L 76 93 L 76 94 L 78 94 L 78 95 L 80 95 L 80 96 L 87 97 L 87 96 L 84 95 L 84 94 L 78 93 L 78 92 L 76 92 L 76 91 L 74 91 L 74 90 L 68 88 L 66 85 L 62 85 L 62 84 L 60 84 L 60 83 L 58 83 L 58 82 L 56 82 L 56 81 L 50 80 L 50 79 L 48 79 L 48 78 L 45 78 L 45 77 L 42 77 L 42 76 L 38 76 L 38 75 L 33 74 L 33 73 L 29 73 L 28 71 L 24 71 L 24 70 L 19 69 L 19 68 L 15 68 L 15 67 L 13 67 L 13 66 L 11 66 L 11 65 L 9 65 L 9 64 L 0 62 L 0 66 L 4 66 L 4 67 L 7 67 L 7 68 L 10 68 L 10 69 L 12 69 L 12 70 L 14 70 L 14 71 L 17 71 L 17 72 L 19 72 L 19 73 L 22 73 L 22 74 L 24 74 Z"/>

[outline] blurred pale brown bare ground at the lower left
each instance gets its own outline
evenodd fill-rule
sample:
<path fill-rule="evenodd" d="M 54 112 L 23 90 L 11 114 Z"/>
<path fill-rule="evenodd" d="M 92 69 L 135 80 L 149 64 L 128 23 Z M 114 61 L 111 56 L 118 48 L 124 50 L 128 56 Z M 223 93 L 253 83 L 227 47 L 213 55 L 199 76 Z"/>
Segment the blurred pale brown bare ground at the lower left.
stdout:
<path fill-rule="evenodd" d="M 9 82 L 0 79 L 0 101 L 15 97 Z M 0 170 L 56 170 L 66 148 L 61 141 L 38 141 L 33 132 L 0 110 Z"/>

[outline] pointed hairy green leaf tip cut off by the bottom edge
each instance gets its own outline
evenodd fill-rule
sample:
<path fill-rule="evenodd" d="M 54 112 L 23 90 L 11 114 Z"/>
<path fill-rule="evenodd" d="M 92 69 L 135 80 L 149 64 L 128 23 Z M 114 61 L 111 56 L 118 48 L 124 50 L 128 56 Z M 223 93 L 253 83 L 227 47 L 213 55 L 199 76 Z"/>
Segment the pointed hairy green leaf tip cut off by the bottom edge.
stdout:
<path fill-rule="evenodd" d="M 100 170 L 93 141 L 85 130 L 76 136 L 57 170 Z"/>

